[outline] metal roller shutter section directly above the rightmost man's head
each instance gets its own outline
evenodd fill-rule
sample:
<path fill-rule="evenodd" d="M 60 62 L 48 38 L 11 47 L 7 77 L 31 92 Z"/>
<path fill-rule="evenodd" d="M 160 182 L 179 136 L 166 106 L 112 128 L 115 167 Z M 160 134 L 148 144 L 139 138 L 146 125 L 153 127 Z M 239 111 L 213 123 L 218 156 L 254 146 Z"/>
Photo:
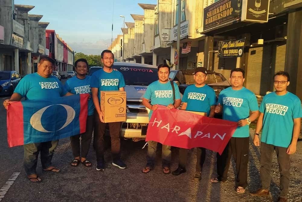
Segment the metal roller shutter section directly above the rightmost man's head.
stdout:
<path fill-rule="evenodd" d="M 272 50 L 272 61 L 271 61 L 271 85 L 270 90 L 274 91 L 274 74 L 278 71 L 284 71 L 285 66 L 285 54 L 286 54 L 286 44 L 278 43 L 273 45 Z"/>

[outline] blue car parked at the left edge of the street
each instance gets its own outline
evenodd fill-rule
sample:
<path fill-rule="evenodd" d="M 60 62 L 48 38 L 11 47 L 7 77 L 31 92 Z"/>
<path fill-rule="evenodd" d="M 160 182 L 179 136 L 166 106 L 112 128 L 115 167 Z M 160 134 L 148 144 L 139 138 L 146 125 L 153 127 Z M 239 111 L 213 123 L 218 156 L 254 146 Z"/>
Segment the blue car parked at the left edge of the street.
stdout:
<path fill-rule="evenodd" d="M 17 71 L 0 71 L 0 95 L 11 95 L 21 80 Z"/>

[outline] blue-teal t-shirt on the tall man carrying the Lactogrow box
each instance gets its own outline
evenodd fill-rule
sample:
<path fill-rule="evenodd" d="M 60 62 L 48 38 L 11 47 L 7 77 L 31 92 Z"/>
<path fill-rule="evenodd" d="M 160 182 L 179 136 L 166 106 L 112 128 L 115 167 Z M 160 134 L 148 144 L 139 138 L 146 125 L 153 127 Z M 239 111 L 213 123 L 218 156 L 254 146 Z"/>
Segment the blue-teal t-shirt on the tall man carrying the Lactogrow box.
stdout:
<path fill-rule="evenodd" d="M 101 100 L 100 91 L 105 90 L 119 90 L 122 87 L 125 87 L 125 80 L 122 73 L 119 71 L 112 71 L 107 73 L 101 68 L 96 71 L 91 76 L 90 87 L 98 88 L 98 99 Z"/>

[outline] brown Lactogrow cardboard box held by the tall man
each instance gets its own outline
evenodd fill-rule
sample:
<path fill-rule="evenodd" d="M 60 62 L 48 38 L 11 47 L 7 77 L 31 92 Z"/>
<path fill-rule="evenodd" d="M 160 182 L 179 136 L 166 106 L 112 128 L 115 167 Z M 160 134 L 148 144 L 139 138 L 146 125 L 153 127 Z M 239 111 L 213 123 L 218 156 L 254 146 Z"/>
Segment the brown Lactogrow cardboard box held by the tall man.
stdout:
<path fill-rule="evenodd" d="M 104 122 L 126 121 L 126 91 L 101 91 L 101 110 Z"/>

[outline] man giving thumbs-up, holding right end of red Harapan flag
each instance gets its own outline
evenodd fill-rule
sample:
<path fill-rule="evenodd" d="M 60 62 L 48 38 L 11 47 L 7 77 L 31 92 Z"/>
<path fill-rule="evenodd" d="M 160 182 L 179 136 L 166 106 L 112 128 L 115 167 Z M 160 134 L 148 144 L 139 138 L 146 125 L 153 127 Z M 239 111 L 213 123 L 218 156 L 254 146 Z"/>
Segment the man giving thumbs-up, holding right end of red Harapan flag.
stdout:
<path fill-rule="evenodd" d="M 226 145 L 222 154 L 217 153 L 217 178 L 212 183 L 227 180 L 230 160 L 236 163 L 236 193 L 243 194 L 247 186 L 247 165 L 249 162 L 249 124 L 259 115 L 256 96 L 252 91 L 243 87 L 244 71 L 235 68 L 231 71 L 230 83 L 232 87 L 222 90 L 218 96 L 215 112 L 222 111 L 223 119 L 237 122 L 238 127 Z M 250 115 L 250 111 L 252 111 Z"/>

